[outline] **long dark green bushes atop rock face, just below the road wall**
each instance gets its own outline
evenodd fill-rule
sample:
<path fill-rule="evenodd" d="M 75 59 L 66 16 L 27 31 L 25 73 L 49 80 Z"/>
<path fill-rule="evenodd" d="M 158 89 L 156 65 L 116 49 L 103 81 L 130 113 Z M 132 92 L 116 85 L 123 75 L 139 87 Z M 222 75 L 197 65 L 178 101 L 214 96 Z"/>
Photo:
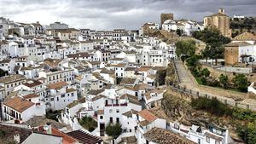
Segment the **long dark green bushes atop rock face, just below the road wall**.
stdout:
<path fill-rule="evenodd" d="M 191 106 L 196 110 L 205 110 L 216 116 L 232 115 L 232 109 L 216 98 L 207 99 L 205 97 L 199 97 L 198 99 L 192 99 Z"/>

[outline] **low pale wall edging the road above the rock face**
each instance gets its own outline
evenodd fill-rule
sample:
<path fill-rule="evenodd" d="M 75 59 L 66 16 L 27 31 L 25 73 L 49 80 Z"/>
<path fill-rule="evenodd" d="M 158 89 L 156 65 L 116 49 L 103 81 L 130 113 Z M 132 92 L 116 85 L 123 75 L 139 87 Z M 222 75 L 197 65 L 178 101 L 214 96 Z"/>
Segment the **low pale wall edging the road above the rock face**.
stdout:
<path fill-rule="evenodd" d="M 182 87 L 182 86 L 176 85 L 176 84 L 171 85 L 171 88 L 178 92 L 181 92 L 181 93 L 184 93 L 187 95 L 192 95 L 195 98 L 196 97 L 207 97 L 208 99 L 217 98 L 218 101 L 221 101 L 224 104 L 230 105 L 232 107 L 239 107 L 239 108 L 243 108 L 243 109 L 250 109 L 252 111 L 256 111 L 256 104 L 248 104 L 248 103 L 245 103 L 242 101 L 234 101 L 234 100 L 232 100 L 230 98 L 226 98 L 224 96 L 209 95 L 206 93 L 201 93 L 199 91 L 195 91 L 193 89 L 186 89 L 186 87 Z"/>

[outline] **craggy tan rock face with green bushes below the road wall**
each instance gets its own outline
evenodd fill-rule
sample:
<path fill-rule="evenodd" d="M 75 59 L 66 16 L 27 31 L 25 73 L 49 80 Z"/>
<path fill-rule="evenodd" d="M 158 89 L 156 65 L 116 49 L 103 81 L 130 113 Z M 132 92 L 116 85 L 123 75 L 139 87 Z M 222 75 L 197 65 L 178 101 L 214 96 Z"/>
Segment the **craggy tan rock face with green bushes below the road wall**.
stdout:
<path fill-rule="evenodd" d="M 173 121 L 203 127 L 207 127 L 207 124 L 218 125 L 229 128 L 231 137 L 236 141 L 256 143 L 256 112 L 229 107 L 217 99 L 195 99 L 192 95 L 171 89 L 166 91 L 161 104 L 161 108 Z"/>

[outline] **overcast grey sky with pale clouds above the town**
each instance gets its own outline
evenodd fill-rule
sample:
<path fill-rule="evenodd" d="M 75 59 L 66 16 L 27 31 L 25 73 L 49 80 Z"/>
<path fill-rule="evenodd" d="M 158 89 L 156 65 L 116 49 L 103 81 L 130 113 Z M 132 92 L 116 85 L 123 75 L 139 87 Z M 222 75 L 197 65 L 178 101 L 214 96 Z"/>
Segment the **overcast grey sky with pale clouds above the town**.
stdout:
<path fill-rule="evenodd" d="M 0 17 L 44 25 L 61 21 L 76 28 L 137 29 L 146 22 L 159 23 L 161 13 L 202 21 L 218 8 L 230 16 L 255 16 L 256 0 L 0 0 Z"/>

